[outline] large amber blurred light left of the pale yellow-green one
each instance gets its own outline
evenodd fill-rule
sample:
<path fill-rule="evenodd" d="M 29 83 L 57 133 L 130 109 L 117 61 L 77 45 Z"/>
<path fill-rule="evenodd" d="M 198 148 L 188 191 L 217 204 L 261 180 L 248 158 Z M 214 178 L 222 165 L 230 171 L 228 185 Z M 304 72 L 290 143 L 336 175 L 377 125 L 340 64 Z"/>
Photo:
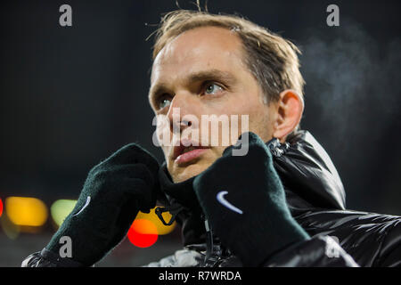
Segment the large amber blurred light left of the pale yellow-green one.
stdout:
<path fill-rule="evenodd" d="M 12 224 L 41 226 L 47 220 L 48 211 L 40 199 L 8 197 L 5 199 L 5 214 Z"/>

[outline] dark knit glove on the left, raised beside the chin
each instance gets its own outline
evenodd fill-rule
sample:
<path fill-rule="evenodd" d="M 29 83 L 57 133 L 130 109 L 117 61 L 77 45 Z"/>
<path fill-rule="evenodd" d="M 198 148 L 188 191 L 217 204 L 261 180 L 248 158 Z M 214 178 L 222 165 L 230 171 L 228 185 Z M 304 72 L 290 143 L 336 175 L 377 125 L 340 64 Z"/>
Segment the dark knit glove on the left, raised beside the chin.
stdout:
<path fill-rule="evenodd" d="M 61 265 L 62 236 L 72 241 L 72 261 L 93 265 L 127 234 L 138 211 L 149 213 L 156 205 L 159 163 L 140 146 L 131 143 L 95 166 L 86 178 L 77 205 L 52 240 L 42 250 Z M 65 257 L 66 259 L 68 257 Z"/>

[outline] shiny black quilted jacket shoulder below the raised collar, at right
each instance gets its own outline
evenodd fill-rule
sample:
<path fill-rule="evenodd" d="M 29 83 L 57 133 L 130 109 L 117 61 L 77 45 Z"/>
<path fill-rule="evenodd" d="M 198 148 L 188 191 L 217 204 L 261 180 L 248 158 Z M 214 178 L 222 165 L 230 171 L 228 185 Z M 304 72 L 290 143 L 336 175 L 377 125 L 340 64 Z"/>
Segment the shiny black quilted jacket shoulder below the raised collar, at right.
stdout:
<path fill-rule="evenodd" d="M 358 265 L 401 265 L 401 216 L 314 209 L 294 218 L 311 236 L 338 241 Z"/>

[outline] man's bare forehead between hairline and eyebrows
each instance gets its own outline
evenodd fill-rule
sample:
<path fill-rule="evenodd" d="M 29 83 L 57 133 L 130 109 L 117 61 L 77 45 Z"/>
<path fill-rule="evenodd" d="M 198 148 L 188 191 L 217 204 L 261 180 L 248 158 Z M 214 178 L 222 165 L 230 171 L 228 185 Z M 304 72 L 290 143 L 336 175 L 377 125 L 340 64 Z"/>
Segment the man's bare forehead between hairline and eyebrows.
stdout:
<path fill-rule="evenodd" d="M 202 27 L 185 31 L 156 56 L 151 83 L 206 69 L 233 71 L 242 67 L 241 39 L 227 28 Z"/>

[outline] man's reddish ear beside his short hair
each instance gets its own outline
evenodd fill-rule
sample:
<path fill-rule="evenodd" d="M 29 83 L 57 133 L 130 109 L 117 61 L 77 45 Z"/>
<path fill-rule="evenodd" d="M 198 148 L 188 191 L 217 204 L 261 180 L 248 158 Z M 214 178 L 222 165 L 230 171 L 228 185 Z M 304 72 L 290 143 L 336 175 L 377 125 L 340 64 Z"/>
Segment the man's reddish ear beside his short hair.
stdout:
<path fill-rule="evenodd" d="M 298 126 L 304 111 L 304 100 L 294 90 L 282 91 L 277 102 L 277 116 L 274 122 L 273 136 L 284 141 L 296 126 Z"/>

